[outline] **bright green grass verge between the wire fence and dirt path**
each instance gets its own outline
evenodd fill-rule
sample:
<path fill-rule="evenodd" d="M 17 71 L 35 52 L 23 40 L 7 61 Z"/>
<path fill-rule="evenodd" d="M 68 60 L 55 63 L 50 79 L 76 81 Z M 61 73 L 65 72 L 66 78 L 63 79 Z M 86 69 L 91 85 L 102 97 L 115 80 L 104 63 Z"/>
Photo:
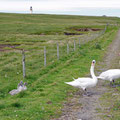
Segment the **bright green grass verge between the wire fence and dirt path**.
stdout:
<path fill-rule="evenodd" d="M 72 77 L 82 77 L 88 73 L 91 60 L 96 59 L 96 61 L 99 61 L 101 59 L 105 48 L 112 41 L 115 31 L 112 30 L 104 35 L 107 40 L 102 38 L 96 40 L 104 50 L 96 49 L 96 41 L 92 41 L 81 46 L 81 49 L 77 48 L 78 50 L 75 53 L 73 52 L 69 56 L 61 58 L 60 61 L 56 61 L 42 70 L 39 69 L 39 62 L 36 63 L 36 67 L 33 67 L 34 64 L 32 64 L 32 68 L 30 68 L 32 70 L 27 71 L 25 79 L 28 82 L 28 90 L 25 91 L 22 97 L 22 93 L 15 96 L 8 95 L 8 91 L 16 86 L 13 81 L 18 83 L 22 72 L 20 75 L 13 74 L 15 68 L 13 68 L 14 71 L 12 71 L 12 68 L 6 71 L 9 82 L 4 78 L 7 82 L 4 83 L 4 87 L 1 89 L 4 92 L 4 97 L 1 96 L 1 103 L 4 105 L 4 107 L 1 107 L 2 119 L 47 120 L 55 117 L 55 114 L 61 113 L 61 102 L 65 101 L 68 92 L 74 91 L 72 87 L 65 85 L 64 82 L 71 81 Z M 81 55 L 80 51 L 84 54 Z M 32 60 L 34 62 L 34 59 Z M 1 79 L 3 80 L 3 77 Z M 12 80 L 10 81 L 10 79 Z"/>

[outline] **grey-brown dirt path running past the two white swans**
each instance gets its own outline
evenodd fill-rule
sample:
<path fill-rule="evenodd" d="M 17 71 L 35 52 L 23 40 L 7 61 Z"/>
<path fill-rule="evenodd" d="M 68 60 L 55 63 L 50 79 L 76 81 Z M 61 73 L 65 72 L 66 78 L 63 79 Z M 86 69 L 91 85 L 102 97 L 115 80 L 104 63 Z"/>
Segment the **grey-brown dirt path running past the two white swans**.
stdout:
<path fill-rule="evenodd" d="M 109 46 L 104 61 L 98 66 L 97 69 L 99 72 L 112 68 L 114 64 L 111 66 L 111 63 L 116 63 L 114 61 L 118 60 L 119 53 L 120 30 L 118 31 L 116 39 Z M 96 74 L 98 75 L 99 72 L 96 72 Z M 96 88 L 89 89 L 89 91 L 94 91 L 93 95 L 90 97 L 84 96 L 80 98 L 80 93 L 76 93 L 73 99 L 65 103 L 62 116 L 55 120 L 101 120 L 99 117 L 100 113 L 98 113 L 97 110 L 100 109 L 103 111 L 104 108 L 101 107 L 99 98 L 108 91 L 108 84 L 109 82 L 105 83 L 100 80 Z"/>

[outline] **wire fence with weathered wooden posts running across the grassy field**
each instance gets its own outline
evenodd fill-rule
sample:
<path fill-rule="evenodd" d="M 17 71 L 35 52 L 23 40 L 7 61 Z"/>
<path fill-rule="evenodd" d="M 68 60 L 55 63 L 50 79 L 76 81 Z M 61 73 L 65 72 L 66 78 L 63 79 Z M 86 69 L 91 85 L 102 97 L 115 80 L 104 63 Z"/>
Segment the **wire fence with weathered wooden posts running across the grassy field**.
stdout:
<path fill-rule="evenodd" d="M 6 75 L 3 71 L 12 71 L 13 68 L 16 74 L 23 74 L 24 79 L 27 72 L 33 72 L 34 69 L 40 70 L 40 68 L 47 67 L 52 63 L 59 61 L 61 58 L 64 58 L 70 53 L 77 51 L 81 45 L 100 37 L 105 33 L 105 31 L 106 27 L 104 30 L 99 32 L 86 34 L 83 37 L 76 37 L 72 38 L 72 40 L 63 42 L 57 41 L 51 46 L 47 45 L 39 47 L 40 49 L 14 49 L 9 52 L 9 54 L 7 52 L 1 52 L 0 59 L 3 62 L 0 63 L 0 66 L 2 67 L 4 65 L 2 73 Z"/>

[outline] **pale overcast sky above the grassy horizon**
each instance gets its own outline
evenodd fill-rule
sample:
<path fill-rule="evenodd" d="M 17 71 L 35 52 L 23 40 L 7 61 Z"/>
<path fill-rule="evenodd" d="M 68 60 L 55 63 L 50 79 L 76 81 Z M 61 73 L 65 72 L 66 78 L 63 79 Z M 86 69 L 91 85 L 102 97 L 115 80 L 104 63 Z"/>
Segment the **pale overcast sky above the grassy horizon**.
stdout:
<path fill-rule="evenodd" d="M 0 12 L 120 16 L 120 0 L 0 0 Z"/>

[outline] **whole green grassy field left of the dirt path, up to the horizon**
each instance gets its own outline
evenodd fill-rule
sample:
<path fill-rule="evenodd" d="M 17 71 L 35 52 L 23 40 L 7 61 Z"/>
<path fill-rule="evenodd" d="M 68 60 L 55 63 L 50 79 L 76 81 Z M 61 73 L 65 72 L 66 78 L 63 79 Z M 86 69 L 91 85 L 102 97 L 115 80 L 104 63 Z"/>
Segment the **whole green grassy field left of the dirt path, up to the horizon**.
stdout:
<path fill-rule="evenodd" d="M 92 39 L 98 32 L 65 36 L 76 28 L 101 28 L 118 18 L 0 14 L 0 44 L 18 45 L 26 50 L 27 91 L 10 96 L 8 92 L 22 80 L 22 54 L 16 49 L 0 52 L 0 116 L 1 120 L 49 120 L 59 117 L 63 102 L 76 89 L 64 82 L 89 73 L 91 61 L 102 60 L 107 46 L 114 39 L 118 27 L 109 26 L 104 35 Z M 77 31 L 78 32 L 78 31 Z M 42 35 L 41 35 L 42 34 Z M 89 39 L 90 38 L 90 39 Z M 78 46 L 78 40 L 81 47 Z M 76 40 L 76 51 L 73 41 Z M 91 41 L 92 40 L 92 41 Z M 56 59 L 56 43 L 60 45 L 60 60 Z M 70 54 L 66 53 L 69 42 Z M 83 44 L 84 43 L 84 44 Z M 43 48 L 47 47 L 47 67 L 44 67 Z"/>

